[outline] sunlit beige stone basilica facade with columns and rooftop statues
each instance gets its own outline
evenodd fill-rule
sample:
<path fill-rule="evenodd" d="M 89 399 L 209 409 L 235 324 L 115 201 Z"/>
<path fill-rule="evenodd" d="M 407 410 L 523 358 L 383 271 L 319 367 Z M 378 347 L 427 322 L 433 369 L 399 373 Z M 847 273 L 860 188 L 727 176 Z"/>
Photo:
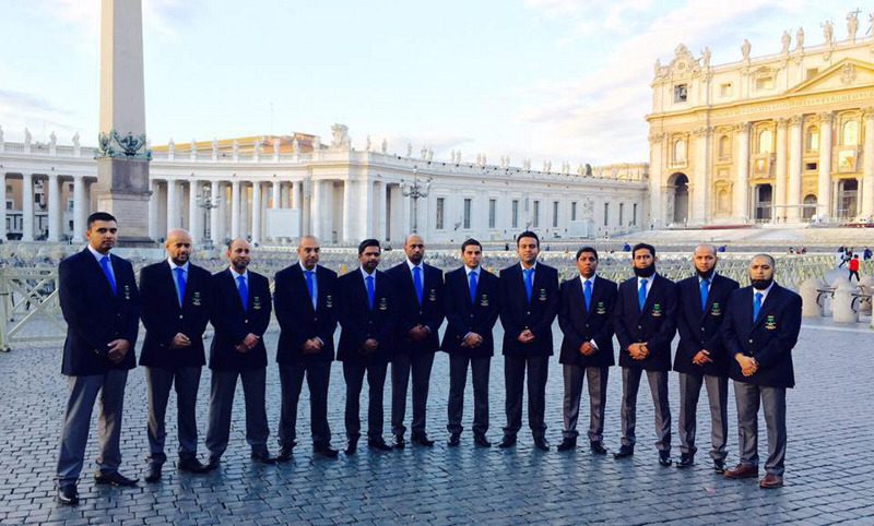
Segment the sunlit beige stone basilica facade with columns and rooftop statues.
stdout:
<path fill-rule="evenodd" d="M 650 141 L 651 223 L 850 223 L 874 216 L 874 37 L 825 43 L 804 31 L 780 52 L 710 64 L 677 46 L 657 61 Z"/>

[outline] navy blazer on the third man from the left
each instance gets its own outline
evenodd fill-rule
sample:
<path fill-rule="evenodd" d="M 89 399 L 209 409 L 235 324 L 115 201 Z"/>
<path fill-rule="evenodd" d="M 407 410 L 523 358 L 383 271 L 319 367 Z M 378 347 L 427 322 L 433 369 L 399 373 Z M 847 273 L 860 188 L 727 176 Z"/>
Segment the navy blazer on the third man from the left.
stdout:
<path fill-rule="evenodd" d="M 234 348 L 251 333 L 263 336 L 270 325 L 270 282 L 261 274 L 249 271 L 249 304 L 243 310 L 237 283 L 229 268 L 213 274 L 215 302 L 210 320 L 215 327 L 210 346 L 210 369 L 243 372 L 267 367 L 267 348 L 263 337 L 248 352 Z"/>

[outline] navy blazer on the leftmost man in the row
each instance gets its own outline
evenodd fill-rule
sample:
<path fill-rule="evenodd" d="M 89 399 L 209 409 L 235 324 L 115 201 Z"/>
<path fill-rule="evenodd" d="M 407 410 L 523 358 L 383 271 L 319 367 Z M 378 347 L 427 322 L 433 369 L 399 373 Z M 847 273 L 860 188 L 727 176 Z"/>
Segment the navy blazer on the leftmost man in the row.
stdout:
<path fill-rule="evenodd" d="M 110 260 L 116 294 L 87 248 L 58 267 L 58 297 L 67 321 L 61 372 L 68 376 L 137 367 L 133 347 L 140 330 L 140 291 L 130 262 L 115 254 Z M 119 338 L 130 342 L 130 350 L 121 363 L 113 363 L 107 344 Z"/>

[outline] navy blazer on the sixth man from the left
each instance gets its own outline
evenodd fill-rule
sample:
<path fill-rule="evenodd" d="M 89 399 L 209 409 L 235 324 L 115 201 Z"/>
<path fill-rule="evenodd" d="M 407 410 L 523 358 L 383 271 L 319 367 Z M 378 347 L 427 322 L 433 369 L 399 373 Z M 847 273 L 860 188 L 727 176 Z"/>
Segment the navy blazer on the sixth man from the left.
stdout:
<path fill-rule="evenodd" d="M 406 261 L 394 265 L 386 274 L 394 283 L 398 296 L 398 345 L 395 352 L 434 352 L 440 346 L 438 331 L 444 323 L 444 272 L 423 263 L 422 304 L 418 303 L 413 285 L 413 273 Z M 414 343 L 409 338 L 410 330 L 425 325 L 430 333 L 424 340 Z"/>

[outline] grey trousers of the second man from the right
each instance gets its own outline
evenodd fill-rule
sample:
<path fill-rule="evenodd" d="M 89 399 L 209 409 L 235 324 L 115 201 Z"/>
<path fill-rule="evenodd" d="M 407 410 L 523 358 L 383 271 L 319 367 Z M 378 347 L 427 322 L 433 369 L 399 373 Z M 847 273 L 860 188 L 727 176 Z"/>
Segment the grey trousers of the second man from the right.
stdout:
<path fill-rule="evenodd" d="M 697 429 L 698 396 L 701 384 L 707 387 L 710 405 L 710 458 L 724 461 L 728 456 L 725 440 L 729 435 L 729 380 L 709 374 L 680 373 L 680 451 L 694 455 L 695 431 Z"/>

